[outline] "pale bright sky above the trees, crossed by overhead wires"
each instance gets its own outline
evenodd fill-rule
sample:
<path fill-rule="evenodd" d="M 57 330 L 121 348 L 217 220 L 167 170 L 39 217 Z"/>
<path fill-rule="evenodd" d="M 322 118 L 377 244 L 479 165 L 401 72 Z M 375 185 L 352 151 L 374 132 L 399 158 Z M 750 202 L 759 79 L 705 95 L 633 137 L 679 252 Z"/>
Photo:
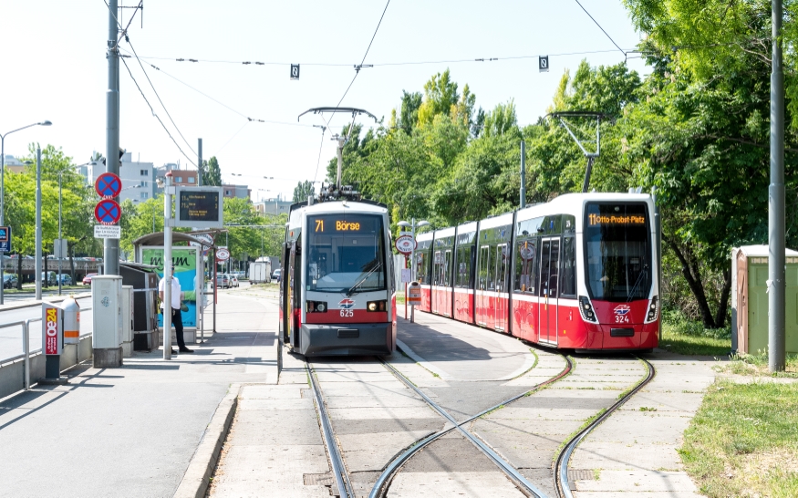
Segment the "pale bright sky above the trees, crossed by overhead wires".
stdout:
<path fill-rule="evenodd" d="M 637 46 L 640 35 L 620 0 L 580 2 L 619 47 Z M 422 92 L 449 68 L 460 89 L 469 85 L 477 108 L 513 99 L 524 125 L 544 116 L 560 78 L 581 60 L 600 66 L 626 58 L 576 0 L 390 0 L 387 9 L 383 0 L 149 0 L 143 16 L 120 12 L 122 26 L 136 12 L 130 41 L 120 42 L 131 56 L 124 58 L 130 73 L 119 65 L 121 147 L 134 161 L 195 169 L 202 138 L 203 158 L 216 156 L 223 182 L 249 185 L 254 201 L 290 200 L 297 182 L 325 179 L 335 157 L 331 132 L 350 117 L 326 115 L 324 132 L 322 117 L 297 117 L 335 107 L 361 61 L 374 67 L 360 70 L 341 106 L 387 122 L 402 90 Z M 8 135 L 6 154 L 26 155 L 34 141 L 78 164 L 95 150 L 105 154 L 108 32 L 104 0 L 0 3 L 0 134 L 53 122 Z M 538 56 L 545 55 L 550 71 L 540 72 Z M 290 64 L 300 65 L 298 80 Z M 639 58 L 627 64 L 648 73 Z"/>

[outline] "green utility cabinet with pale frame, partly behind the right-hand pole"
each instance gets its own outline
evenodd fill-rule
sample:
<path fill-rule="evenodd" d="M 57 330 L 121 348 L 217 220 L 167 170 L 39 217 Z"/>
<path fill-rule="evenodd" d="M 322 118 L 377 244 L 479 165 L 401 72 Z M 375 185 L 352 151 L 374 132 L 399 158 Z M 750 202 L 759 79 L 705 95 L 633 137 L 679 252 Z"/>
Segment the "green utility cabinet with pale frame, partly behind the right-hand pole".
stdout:
<path fill-rule="evenodd" d="M 798 353 L 798 252 L 785 252 L 786 350 Z M 757 353 L 768 348 L 768 246 L 731 250 L 731 349 Z"/>

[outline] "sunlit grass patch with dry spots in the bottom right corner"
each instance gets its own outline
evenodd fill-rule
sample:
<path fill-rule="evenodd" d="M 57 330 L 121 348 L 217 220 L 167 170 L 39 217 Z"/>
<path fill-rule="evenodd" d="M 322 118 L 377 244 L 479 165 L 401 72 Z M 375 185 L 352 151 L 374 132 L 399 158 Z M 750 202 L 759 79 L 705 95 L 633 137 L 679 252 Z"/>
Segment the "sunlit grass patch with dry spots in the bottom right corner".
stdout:
<path fill-rule="evenodd" d="M 684 438 L 701 493 L 798 496 L 798 383 L 714 384 Z"/>

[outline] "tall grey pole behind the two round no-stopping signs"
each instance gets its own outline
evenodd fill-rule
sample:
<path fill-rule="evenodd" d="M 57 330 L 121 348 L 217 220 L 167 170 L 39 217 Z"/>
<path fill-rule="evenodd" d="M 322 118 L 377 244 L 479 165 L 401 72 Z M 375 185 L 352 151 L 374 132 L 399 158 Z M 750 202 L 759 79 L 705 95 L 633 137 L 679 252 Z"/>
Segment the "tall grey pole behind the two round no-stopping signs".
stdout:
<path fill-rule="evenodd" d="M 109 0 L 108 89 L 106 90 L 105 171 L 119 174 L 119 0 Z M 105 275 L 119 275 L 119 239 L 103 239 Z"/>

